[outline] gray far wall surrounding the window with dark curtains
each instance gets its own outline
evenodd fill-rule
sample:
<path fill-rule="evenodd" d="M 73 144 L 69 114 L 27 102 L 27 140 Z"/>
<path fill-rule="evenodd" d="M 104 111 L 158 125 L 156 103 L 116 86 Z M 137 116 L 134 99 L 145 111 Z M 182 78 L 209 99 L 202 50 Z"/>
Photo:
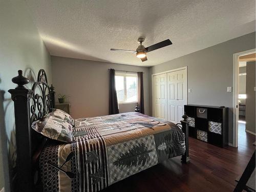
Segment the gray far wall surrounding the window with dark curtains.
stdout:
<path fill-rule="evenodd" d="M 145 114 L 150 114 L 148 68 L 108 62 L 52 56 L 53 86 L 56 95 L 69 95 L 71 115 L 74 118 L 109 114 L 109 71 L 144 72 Z M 134 111 L 136 104 L 119 105 L 120 113 Z"/>

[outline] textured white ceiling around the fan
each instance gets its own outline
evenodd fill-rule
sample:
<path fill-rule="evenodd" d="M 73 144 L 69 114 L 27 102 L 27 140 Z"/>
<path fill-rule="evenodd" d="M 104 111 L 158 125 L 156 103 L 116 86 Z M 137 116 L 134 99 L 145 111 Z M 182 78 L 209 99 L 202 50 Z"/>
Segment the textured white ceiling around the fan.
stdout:
<path fill-rule="evenodd" d="M 26 0 L 51 55 L 154 66 L 255 31 L 255 0 Z M 173 45 L 150 52 L 141 62 L 136 50 L 169 38 Z"/>

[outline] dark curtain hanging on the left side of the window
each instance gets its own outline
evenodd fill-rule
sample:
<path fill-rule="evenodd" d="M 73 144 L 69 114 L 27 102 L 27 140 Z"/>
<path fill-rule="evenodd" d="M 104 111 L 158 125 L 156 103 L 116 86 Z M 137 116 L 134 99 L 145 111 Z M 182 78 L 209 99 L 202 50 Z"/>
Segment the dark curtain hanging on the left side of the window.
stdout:
<path fill-rule="evenodd" d="M 118 102 L 116 95 L 115 70 L 110 69 L 110 108 L 109 114 L 118 114 Z"/>

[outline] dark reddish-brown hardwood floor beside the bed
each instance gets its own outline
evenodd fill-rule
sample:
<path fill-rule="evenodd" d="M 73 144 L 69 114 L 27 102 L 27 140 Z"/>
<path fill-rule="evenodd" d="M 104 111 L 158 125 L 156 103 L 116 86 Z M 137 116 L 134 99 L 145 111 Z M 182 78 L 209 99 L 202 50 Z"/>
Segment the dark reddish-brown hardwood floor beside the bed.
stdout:
<path fill-rule="evenodd" d="M 240 131 L 239 147 L 220 148 L 189 138 L 190 163 L 169 159 L 117 182 L 102 192 L 115 191 L 233 191 L 255 147 L 255 137 Z"/>

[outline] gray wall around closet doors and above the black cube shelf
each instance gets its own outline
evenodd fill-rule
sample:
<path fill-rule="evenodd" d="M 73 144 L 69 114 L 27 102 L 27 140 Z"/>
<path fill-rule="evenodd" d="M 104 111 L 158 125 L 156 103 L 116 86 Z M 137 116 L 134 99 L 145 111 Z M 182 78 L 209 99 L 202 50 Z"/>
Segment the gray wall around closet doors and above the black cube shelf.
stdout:
<path fill-rule="evenodd" d="M 229 107 L 229 142 L 232 143 L 233 93 L 227 92 L 227 87 L 233 83 L 233 54 L 253 48 L 255 32 L 154 66 L 150 69 L 150 80 L 154 73 L 187 66 L 187 87 L 191 89 L 188 104 Z"/>

